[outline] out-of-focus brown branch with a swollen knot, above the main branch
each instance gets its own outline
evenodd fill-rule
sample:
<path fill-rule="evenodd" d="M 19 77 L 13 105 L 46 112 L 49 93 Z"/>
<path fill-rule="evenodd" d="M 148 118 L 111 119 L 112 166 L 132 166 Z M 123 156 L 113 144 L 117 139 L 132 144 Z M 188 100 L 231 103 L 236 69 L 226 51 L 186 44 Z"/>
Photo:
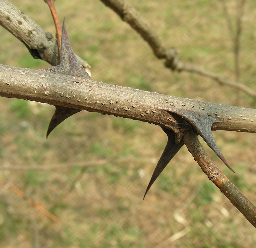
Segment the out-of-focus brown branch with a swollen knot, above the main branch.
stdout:
<path fill-rule="evenodd" d="M 149 23 L 143 19 L 139 12 L 125 0 L 100 0 L 103 4 L 116 12 L 122 20 L 127 22 L 141 37 L 149 44 L 157 58 L 165 59 L 165 66 L 172 71 L 187 71 L 198 73 L 200 75 L 210 77 L 217 81 L 220 85 L 234 87 L 244 93 L 256 97 L 256 92 L 239 82 L 229 81 L 221 78 L 217 74 L 204 71 L 195 66 L 188 66 L 179 61 L 178 52 L 175 48 L 167 48 L 162 39 L 156 34 L 156 31 Z"/>

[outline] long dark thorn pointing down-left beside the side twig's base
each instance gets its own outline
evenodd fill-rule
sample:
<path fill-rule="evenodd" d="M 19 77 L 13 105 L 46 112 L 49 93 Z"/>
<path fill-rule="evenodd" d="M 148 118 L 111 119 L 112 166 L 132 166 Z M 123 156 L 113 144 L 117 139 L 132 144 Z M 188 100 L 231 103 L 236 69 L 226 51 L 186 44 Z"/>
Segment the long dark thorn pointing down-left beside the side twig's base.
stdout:
<path fill-rule="evenodd" d="M 164 170 L 164 168 L 167 166 L 167 164 L 171 161 L 171 159 L 174 157 L 174 155 L 180 150 L 180 148 L 184 145 L 183 140 L 180 141 L 180 143 L 175 143 L 175 134 L 173 131 L 162 128 L 166 135 L 168 136 L 167 144 L 164 148 L 164 151 L 156 165 L 156 168 L 152 174 L 152 177 L 148 183 L 148 187 L 146 189 L 146 192 L 144 194 L 143 200 L 148 193 L 148 190 L 152 186 L 152 184 L 156 181 L 156 178 L 161 174 L 161 172 Z"/>

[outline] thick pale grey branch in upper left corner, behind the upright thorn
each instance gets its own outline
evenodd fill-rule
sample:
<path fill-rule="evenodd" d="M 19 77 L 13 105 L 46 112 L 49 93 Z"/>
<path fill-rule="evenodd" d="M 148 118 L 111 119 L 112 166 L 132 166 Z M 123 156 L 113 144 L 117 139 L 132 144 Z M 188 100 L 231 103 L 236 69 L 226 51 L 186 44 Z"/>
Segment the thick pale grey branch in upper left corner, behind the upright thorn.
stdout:
<path fill-rule="evenodd" d="M 40 58 L 52 66 L 60 64 L 58 44 L 53 35 L 7 0 L 0 1 L 0 25 L 24 43 L 33 58 Z M 91 68 L 82 58 L 76 57 L 84 68 Z"/>

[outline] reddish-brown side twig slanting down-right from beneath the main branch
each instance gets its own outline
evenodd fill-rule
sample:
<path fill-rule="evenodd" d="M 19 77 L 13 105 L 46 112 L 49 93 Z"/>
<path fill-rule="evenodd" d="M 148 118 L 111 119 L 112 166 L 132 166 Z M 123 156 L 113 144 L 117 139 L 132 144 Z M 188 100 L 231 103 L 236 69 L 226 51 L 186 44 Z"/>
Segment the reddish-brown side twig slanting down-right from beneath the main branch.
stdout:
<path fill-rule="evenodd" d="M 214 165 L 197 136 L 191 131 L 186 132 L 184 135 L 184 143 L 202 171 L 256 228 L 256 207 L 228 180 L 220 169 Z"/>

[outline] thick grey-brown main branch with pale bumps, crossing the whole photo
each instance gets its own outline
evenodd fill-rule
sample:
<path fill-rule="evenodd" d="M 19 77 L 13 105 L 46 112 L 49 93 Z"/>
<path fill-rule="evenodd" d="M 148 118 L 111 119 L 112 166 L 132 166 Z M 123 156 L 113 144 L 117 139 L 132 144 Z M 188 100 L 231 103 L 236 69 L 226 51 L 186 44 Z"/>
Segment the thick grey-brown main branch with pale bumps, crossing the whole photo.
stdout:
<path fill-rule="evenodd" d="M 141 120 L 176 133 L 184 127 L 172 112 L 191 112 L 198 118 L 207 114 L 216 119 L 212 130 L 256 133 L 255 109 L 172 97 L 44 70 L 0 65 L 0 96 Z"/>

